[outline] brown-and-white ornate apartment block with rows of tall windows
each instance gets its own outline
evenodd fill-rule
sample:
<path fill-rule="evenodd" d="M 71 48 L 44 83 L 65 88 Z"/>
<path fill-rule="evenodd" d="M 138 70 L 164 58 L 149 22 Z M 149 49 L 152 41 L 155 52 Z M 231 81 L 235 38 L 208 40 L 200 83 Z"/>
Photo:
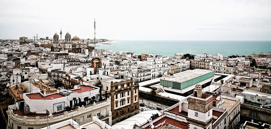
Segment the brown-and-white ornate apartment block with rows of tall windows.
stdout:
<path fill-rule="evenodd" d="M 139 86 L 133 78 L 101 80 L 103 90 L 111 96 L 112 123 L 118 123 L 139 113 Z"/>

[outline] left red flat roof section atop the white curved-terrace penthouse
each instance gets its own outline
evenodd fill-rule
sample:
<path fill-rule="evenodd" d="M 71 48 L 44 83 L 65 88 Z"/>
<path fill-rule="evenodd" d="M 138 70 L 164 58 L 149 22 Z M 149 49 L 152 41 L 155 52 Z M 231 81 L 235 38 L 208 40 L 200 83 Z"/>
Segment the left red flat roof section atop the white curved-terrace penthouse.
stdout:
<path fill-rule="evenodd" d="M 42 96 L 40 93 L 26 94 L 26 96 L 29 99 L 37 99 L 37 100 L 51 100 L 51 98 L 57 99 L 57 98 L 65 97 L 64 95 L 59 94 L 59 93 L 50 94 L 50 95 L 47 95 L 45 97 Z"/>

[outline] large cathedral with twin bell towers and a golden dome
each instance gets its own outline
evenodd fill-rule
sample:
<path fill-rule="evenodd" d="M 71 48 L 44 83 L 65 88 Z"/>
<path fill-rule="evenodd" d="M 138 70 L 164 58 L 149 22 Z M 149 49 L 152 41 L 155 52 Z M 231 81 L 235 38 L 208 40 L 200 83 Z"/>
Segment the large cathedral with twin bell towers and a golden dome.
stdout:
<path fill-rule="evenodd" d="M 86 49 L 88 49 L 88 52 L 92 52 L 94 47 L 89 46 L 86 42 L 81 42 L 80 38 L 77 36 L 71 38 L 69 32 L 66 33 L 64 40 L 62 40 L 62 31 L 60 31 L 60 40 L 57 33 L 53 36 L 53 46 L 51 47 L 51 51 L 53 52 L 65 50 L 66 52 L 72 53 L 85 53 Z"/>

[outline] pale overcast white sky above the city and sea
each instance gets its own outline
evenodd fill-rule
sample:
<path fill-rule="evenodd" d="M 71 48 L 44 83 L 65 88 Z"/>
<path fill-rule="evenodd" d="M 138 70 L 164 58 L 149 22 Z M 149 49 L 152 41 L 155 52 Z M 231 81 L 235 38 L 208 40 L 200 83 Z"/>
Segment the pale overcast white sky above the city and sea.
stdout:
<path fill-rule="evenodd" d="M 271 40 L 271 1 L 10 1 L 0 39 Z M 59 34 L 60 37 L 60 34 Z"/>

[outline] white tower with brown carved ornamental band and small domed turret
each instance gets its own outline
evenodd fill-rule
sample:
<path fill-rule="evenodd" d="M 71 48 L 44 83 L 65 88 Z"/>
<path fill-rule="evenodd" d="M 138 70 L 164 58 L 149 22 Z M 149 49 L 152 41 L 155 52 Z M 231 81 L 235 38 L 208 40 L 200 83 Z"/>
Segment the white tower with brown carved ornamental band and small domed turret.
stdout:
<path fill-rule="evenodd" d="M 194 94 L 188 97 L 188 129 L 212 129 L 212 95 L 202 93 L 202 86 L 196 85 Z"/>

